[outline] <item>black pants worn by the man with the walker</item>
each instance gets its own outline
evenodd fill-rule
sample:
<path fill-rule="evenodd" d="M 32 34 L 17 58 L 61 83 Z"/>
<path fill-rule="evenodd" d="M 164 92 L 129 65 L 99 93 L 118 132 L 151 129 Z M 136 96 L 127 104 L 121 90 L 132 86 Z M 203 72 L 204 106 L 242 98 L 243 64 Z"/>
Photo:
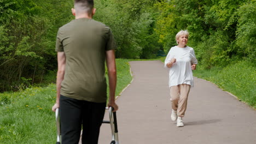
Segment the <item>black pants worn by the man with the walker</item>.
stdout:
<path fill-rule="evenodd" d="M 93 103 L 61 95 L 60 119 L 62 144 L 78 144 L 83 123 L 83 144 L 97 144 L 106 103 Z"/>

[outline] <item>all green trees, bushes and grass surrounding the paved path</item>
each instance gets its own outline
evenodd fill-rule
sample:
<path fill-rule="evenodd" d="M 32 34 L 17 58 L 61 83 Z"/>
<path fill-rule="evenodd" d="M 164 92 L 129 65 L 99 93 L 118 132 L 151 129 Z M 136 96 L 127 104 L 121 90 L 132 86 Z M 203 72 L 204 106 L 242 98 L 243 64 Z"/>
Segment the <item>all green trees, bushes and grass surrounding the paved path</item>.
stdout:
<path fill-rule="evenodd" d="M 55 142 L 55 40 L 74 19 L 72 7 L 73 0 L 0 0 L 0 143 Z M 188 29 L 194 75 L 256 107 L 256 0 L 95 0 L 95 8 L 118 45 L 116 95 L 131 81 L 129 59 L 165 56 Z"/>

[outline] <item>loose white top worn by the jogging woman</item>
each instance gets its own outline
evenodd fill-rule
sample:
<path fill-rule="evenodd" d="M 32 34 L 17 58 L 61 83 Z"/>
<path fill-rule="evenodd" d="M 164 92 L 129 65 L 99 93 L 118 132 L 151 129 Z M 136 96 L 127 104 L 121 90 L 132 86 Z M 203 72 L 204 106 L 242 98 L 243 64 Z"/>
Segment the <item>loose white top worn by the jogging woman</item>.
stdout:
<path fill-rule="evenodd" d="M 172 58 L 176 58 L 176 62 L 171 68 L 168 68 L 166 64 Z M 165 59 L 165 68 L 169 69 L 169 87 L 183 83 L 194 87 L 192 64 L 197 64 L 195 51 L 192 47 L 172 47 Z"/>

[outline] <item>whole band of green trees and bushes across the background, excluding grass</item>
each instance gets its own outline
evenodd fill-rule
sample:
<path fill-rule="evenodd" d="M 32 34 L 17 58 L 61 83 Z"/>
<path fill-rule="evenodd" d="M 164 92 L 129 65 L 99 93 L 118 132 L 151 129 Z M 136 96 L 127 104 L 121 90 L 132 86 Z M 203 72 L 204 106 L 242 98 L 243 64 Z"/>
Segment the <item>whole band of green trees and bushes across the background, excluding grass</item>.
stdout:
<path fill-rule="evenodd" d="M 56 32 L 74 19 L 72 7 L 73 0 L 0 0 L 0 92 L 56 69 Z M 255 61 L 255 0 L 95 0 L 95 7 L 94 19 L 114 33 L 118 58 L 162 55 L 188 29 L 203 69 Z"/>

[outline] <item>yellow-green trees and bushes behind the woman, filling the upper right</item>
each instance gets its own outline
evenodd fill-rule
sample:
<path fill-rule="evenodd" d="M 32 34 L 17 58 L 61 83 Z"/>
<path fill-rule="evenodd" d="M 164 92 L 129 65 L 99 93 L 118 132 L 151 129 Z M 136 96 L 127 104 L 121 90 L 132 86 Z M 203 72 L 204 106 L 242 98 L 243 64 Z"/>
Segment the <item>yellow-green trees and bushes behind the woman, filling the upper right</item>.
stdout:
<path fill-rule="evenodd" d="M 188 29 L 189 45 L 203 68 L 224 67 L 242 58 L 255 61 L 255 0 L 172 0 L 157 5 L 156 32 L 166 51 L 175 45 L 176 33 Z"/>

